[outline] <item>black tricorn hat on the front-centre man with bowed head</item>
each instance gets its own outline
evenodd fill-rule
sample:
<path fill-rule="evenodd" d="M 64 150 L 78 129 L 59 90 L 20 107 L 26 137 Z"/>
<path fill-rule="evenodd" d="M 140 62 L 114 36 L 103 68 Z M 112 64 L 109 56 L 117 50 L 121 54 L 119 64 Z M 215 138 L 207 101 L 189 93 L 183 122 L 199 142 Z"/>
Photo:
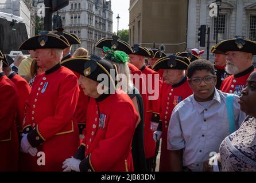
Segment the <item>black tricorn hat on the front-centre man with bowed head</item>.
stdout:
<path fill-rule="evenodd" d="M 115 82 L 117 67 L 106 59 L 102 59 L 96 55 L 91 55 L 90 57 L 74 57 L 66 59 L 60 62 L 60 64 L 99 83 L 103 82 L 104 79 L 102 77 L 98 78 L 98 75 L 106 74 L 109 79 L 107 84 L 110 83 L 110 86 L 114 88 L 117 84 L 117 82 Z"/>

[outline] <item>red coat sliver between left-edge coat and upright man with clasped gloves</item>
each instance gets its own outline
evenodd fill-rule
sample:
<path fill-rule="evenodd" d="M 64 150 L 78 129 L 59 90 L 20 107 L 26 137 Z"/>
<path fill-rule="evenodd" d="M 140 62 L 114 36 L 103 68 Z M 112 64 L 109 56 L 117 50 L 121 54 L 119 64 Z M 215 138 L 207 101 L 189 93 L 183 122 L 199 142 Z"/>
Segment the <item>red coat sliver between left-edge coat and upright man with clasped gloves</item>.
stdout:
<path fill-rule="evenodd" d="M 9 75 L 9 79 L 14 83 L 18 89 L 18 111 L 17 111 L 17 125 L 18 130 L 22 132 L 22 121 L 24 119 L 25 101 L 28 99 L 31 88 L 26 80 L 15 72 Z"/>

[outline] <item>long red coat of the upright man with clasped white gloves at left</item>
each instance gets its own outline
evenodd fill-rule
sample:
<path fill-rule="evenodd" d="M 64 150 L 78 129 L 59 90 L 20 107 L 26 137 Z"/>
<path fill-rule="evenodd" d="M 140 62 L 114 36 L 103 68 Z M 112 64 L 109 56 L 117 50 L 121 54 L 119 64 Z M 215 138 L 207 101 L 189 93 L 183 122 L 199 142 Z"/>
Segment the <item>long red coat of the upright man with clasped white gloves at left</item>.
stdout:
<path fill-rule="evenodd" d="M 78 98 L 77 77 L 59 64 L 37 75 L 26 102 L 24 132 L 38 152 L 44 152 L 45 165 L 22 153 L 22 170 L 62 171 L 63 161 L 79 146 L 79 133 L 73 114 Z M 33 130 L 31 130 L 33 129 Z"/>

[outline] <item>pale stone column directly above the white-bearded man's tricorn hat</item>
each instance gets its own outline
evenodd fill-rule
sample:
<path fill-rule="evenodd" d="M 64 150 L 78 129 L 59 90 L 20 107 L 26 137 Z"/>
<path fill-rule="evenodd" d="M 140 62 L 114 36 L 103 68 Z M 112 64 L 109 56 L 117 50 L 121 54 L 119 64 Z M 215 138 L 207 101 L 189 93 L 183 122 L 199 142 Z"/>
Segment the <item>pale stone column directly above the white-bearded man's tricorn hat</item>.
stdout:
<path fill-rule="evenodd" d="M 235 22 L 235 35 L 243 34 L 243 1 L 236 0 L 236 22 Z"/>

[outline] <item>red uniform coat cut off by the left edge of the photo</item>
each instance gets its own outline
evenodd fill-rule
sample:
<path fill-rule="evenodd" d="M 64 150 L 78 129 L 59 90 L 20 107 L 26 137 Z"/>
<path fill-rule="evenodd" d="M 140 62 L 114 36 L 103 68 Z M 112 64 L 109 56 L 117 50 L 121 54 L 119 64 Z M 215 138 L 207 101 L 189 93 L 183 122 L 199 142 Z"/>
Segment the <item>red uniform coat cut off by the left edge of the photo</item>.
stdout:
<path fill-rule="evenodd" d="M 14 83 L 0 73 L 0 172 L 18 171 L 17 100 Z"/>

